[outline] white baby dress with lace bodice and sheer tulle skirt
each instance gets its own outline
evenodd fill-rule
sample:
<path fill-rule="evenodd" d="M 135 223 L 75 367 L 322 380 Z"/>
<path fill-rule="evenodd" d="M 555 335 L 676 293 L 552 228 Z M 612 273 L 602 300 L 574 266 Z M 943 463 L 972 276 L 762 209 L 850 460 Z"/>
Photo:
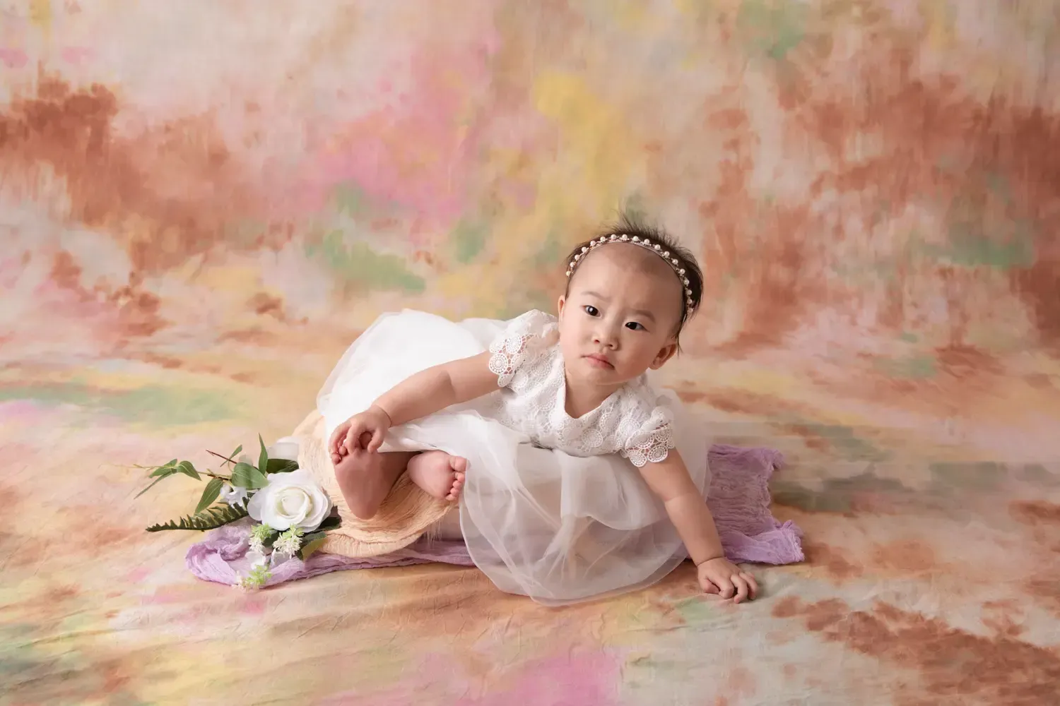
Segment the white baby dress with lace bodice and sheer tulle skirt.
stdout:
<path fill-rule="evenodd" d="M 317 397 L 330 435 L 410 375 L 489 348 L 496 392 L 392 428 L 382 451 L 467 458 L 460 528 L 472 559 L 500 590 L 550 605 L 642 589 L 686 557 L 638 466 L 676 448 L 704 495 L 710 479 L 702 428 L 648 375 L 571 418 L 556 339 L 541 311 L 459 323 L 384 314 Z"/>

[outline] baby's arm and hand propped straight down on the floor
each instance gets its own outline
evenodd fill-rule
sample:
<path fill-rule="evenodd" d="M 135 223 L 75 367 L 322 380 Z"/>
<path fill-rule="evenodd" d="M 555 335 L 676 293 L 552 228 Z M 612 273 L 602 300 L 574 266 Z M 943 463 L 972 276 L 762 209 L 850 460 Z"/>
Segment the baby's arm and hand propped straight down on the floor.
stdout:
<path fill-rule="evenodd" d="M 689 558 L 697 567 L 704 590 L 710 591 L 712 585 L 717 587 L 713 593 L 721 593 L 724 598 L 735 596 L 737 602 L 748 596 L 754 598 L 758 592 L 754 577 L 725 559 L 714 519 L 677 450 L 671 449 L 658 463 L 644 464 L 640 474 L 666 506 Z"/>

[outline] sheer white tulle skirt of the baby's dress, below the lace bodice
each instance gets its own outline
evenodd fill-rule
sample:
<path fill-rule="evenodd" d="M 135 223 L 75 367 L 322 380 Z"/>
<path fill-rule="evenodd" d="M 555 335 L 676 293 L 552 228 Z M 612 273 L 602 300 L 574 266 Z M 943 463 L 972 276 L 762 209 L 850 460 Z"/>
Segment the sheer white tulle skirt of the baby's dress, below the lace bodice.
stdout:
<path fill-rule="evenodd" d="M 384 314 L 318 395 L 328 434 L 414 373 L 482 352 L 507 324 Z M 497 587 L 549 605 L 571 603 L 646 587 L 686 558 L 661 502 L 628 459 L 535 447 L 491 418 L 490 396 L 392 428 L 381 452 L 441 449 L 467 458 L 460 529 Z M 676 448 L 705 494 L 709 442 L 676 397 L 672 404 Z"/>

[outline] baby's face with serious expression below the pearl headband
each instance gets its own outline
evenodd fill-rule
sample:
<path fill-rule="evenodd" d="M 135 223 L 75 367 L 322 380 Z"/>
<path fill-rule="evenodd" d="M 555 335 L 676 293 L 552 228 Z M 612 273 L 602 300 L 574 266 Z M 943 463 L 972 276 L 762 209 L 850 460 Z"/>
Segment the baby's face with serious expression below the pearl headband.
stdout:
<path fill-rule="evenodd" d="M 676 350 L 683 291 L 670 266 L 638 246 L 591 251 L 559 303 L 567 374 L 617 387 L 661 366 Z"/>

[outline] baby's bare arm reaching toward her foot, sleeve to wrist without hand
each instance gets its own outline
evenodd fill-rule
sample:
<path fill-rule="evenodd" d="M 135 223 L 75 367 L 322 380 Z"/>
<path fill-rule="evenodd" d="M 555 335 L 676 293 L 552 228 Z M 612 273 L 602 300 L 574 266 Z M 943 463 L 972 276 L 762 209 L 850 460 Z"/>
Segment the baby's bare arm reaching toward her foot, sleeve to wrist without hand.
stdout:
<path fill-rule="evenodd" d="M 490 351 L 428 367 L 406 378 L 375 400 L 396 427 L 469 402 L 497 390 L 497 374 L 490 370 Z"/>

